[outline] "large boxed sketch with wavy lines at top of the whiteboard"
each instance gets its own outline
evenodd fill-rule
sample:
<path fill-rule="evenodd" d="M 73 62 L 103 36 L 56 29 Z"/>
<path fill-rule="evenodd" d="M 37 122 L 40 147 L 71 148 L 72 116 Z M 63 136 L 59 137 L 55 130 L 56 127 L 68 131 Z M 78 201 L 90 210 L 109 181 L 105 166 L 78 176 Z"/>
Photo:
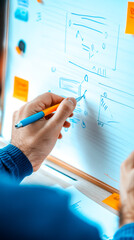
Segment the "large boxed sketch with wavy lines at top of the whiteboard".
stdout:
<path fill-rule="evenodd" d="M 117 67 L 119 33 L 120 26 L 104 17 L 68 13 L 65 52 L 69 63 L 106 78 L 106 69 Z"/>

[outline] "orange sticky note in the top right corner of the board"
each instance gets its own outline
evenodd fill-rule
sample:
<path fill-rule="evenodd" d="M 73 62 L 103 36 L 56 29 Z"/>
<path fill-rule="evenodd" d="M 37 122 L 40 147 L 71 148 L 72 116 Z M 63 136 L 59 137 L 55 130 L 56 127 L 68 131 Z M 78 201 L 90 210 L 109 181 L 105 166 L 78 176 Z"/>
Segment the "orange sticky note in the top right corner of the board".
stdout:
<path fill-rule="evenodd" d="M 125 33 L 134 34 L 134 2 L 128 2 Z"/>

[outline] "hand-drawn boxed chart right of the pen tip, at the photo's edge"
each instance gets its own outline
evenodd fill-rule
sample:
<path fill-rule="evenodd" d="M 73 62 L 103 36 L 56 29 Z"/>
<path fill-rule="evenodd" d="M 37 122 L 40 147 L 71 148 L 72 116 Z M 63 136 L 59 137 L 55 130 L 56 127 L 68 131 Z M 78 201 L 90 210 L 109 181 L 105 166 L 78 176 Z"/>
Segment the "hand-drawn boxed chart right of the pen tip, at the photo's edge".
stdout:
<path fill-rule="evenodd" d="M 120 113 L 120 114 L 119 114 Z M 127 105 L 123 102 L 116 101 L 108 98 L 107 93 L 104 92 L 100 96 L 100 105 L 98 113 L 98 125 L 104 127 L 108 126 L 119 126 L 125 127 L 126 122 L 128 123 L 127 116 L 134 115 L 134 107 Z M 131 120 L 129 127 L 131 125 Z M 133 129 L 133 126 L 131 126 Z"/>

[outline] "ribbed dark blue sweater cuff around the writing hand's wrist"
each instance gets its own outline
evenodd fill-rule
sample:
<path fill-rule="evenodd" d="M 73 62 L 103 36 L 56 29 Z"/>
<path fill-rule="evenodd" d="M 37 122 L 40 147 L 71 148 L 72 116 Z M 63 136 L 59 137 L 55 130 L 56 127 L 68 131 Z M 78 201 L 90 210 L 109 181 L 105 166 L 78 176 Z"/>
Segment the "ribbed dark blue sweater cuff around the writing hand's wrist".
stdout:
<path fill-rule="evenodd" d="M 30 161 L 20 149 L 12 144 L 0 149 L 0 175 L 8 174 L 20 182 L 32 172 Z"/>

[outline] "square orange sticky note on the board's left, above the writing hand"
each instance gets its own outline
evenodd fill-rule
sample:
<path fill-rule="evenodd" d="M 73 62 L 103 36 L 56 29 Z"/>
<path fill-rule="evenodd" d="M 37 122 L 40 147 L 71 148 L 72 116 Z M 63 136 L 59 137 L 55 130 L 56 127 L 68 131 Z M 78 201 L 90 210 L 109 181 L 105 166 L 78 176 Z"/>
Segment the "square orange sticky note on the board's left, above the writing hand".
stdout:
<path fill-rule="evenodd" d="M 19 77 L 14 77 L 13 97 L 27 102 L 29 82 Z"/>

